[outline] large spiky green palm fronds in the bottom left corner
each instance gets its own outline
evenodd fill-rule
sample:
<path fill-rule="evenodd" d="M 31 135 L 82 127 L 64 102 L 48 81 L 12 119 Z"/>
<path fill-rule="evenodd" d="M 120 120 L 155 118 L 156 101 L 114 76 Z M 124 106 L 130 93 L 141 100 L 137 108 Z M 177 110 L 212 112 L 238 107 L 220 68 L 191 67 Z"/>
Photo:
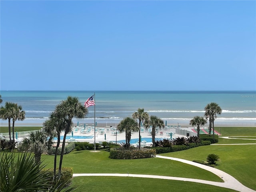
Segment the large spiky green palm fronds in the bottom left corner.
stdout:
<path fill-rule="evenodd" d="M 72 192 L 76 188 L 64 190 L 65 183 L 53 182 L 51 175 L 42 171 L 44 165 L 36 163 L 31 153 L 19 153 L 16 160 L 15 153 L 4 152 L 0 165 L 1 192 Z"/>

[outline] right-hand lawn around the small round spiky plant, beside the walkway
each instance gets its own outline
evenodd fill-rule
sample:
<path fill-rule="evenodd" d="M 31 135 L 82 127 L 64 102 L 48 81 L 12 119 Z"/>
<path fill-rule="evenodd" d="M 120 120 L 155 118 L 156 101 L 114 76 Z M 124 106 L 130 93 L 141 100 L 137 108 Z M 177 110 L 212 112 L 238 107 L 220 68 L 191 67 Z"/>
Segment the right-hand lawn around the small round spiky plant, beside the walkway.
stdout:
<path fill-rule="evenodd" d="M 215 168 L 227 172 L 245 186 L 256 190 L 255 145 L 210 145 L 161 155 L 192 161 L 206 160 L 210 153 L 220 156 L 221 161 Z"/>

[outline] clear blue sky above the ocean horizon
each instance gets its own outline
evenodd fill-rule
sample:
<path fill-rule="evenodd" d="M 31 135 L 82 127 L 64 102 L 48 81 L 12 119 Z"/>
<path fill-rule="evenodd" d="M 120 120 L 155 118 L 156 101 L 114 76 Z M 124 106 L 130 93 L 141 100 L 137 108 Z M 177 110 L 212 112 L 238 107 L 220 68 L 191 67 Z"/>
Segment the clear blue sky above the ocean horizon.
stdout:
<path fill-rule="evenodd" d="M 0 90 L 256 90 L 255 1 L 0 6 Z"/>

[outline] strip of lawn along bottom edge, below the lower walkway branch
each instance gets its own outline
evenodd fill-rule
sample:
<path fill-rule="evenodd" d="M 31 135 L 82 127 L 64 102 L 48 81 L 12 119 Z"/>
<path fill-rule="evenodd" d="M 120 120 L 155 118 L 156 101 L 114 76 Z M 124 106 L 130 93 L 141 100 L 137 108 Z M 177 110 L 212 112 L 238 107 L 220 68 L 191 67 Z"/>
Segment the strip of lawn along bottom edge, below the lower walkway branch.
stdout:
<path fill-rule="evenodd" d="M 133 178 L 133 177 L 75 177 L 76 191 L 82 192 L 237 192 L 212 185 L 175 180 Z"/>

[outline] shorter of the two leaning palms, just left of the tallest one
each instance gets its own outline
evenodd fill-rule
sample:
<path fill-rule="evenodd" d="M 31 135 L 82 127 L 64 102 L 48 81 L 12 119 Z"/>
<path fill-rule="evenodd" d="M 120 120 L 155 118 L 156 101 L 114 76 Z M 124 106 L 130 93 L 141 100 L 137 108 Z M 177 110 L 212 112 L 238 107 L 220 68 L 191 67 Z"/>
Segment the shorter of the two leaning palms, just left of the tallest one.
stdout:
<path fill-rule="evenodd" d="M 57 136 L 57 145 L 54 155 L 54 176 L 56 176 L 56 164 L 57 164 L 57 151 L 60 146 L 60 133 L 65 130 L 67 126 L 66 118 L 58 117 L 58 114 L 54 111 L 50 113 L 50 118 L 44 122 L 44 130 L 51 136 Z"/>

